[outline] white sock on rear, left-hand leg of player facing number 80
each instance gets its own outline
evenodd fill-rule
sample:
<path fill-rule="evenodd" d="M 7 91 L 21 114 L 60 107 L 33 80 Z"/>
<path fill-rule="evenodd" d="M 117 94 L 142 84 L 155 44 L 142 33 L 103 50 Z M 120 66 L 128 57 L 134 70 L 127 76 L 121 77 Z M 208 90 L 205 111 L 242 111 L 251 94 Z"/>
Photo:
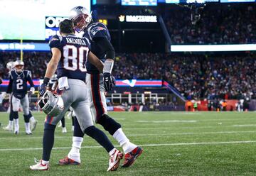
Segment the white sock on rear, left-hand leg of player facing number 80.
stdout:
<path fill-rule="evenodd" d="M 68 158 L 75 160 L 78 163 L 81 163 L 80 149 L 81 149 L 82 141 L 83 141 L 83 138 L 73 136 L 72 148 L 68 153 Z"/>

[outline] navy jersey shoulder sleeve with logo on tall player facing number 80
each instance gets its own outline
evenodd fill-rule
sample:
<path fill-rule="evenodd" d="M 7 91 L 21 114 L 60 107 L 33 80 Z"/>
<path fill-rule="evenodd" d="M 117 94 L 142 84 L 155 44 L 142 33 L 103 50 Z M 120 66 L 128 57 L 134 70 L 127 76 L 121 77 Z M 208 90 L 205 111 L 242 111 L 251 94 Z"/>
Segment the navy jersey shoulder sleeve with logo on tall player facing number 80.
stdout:
<path fill-rule="evenodd" d="M 97 23 L 90 29 L 90 37 L 93 38 L 107 38 L 107 26 L 103 23 Z"/>

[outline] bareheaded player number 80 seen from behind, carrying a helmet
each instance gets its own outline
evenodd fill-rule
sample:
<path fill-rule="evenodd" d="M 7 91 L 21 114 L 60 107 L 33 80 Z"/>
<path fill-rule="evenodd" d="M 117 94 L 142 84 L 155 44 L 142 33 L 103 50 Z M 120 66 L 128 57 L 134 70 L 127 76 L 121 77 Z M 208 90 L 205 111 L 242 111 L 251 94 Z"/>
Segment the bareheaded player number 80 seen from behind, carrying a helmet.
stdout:
<path fill-rule="evenodd" d="M 96 128 L 92 121 L 90 106 L 88 105 L 88 93 L 85 84 L 87 60 L 92 62 L 99 70 L 103 69 L 102 62 L 90 52 L 86 38 L 78 38 L 74 35 L 73 22 L 65 19 L 60 23 L 60 36 L 54 35 L 50 39 L 52 57 L 48 63 L 43 84 L 39 90 L 40 95 L 47 93 L 46 87 L 57 70 L 58 92 L 64 102 L 63 111 L 58 116 L 46 116 L 43 133 L 43 158 L 31 165 L 31 170 L 49 170 L 50 152 L 54 143 L 54 131 L 60 119 L 70 106 L 75 111 L 80 131 L 86 133 L 100 143 L 110 155 L 107 171 L 117 170 L 123 154 L 114 148 L 105 133 Z"/>

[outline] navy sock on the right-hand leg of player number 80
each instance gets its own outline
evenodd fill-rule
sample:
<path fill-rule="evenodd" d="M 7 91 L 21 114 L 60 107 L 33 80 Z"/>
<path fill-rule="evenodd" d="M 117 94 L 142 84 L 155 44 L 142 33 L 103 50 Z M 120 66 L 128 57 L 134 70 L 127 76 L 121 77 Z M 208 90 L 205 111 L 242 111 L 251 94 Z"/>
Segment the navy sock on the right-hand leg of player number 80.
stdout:
<path fill-rule="evenodd" d="M 97 141 L 97 143 L 100 143 L 100 145 L 102 145 L 102 147 L 104 147 L 108 153 L 114 148 L 114 145 L 110 142 L 109 138 L 107 138 L 105 133 L 103 133 L 103 131 L 96 128 L 95 126 L 89 126 L 88 128 L 86 128 L 85 134 L 94 138 L 95 141 Z"/>

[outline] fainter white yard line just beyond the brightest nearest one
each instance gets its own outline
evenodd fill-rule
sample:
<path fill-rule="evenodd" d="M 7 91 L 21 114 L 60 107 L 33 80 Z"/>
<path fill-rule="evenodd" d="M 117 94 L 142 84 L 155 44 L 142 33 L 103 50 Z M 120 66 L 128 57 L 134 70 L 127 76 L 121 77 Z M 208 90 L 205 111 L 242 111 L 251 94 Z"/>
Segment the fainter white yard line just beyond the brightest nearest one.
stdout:
<path fill-rule="evenodd" d="M 152 133 L 152 134 L 127 134 L 127 136 L 182 136 L 182 135 L 200 135 L 200 134 L 230 134 L 230 133 L 256 133 L 256 131 L 207 131 L 207 132 L 184 132 L 184 133 Z M 85 136 L 86 138 L 89 138 L 88 136 Z M 0 140 L 30 140 L 30 139 L 36 139 L 36 138 L 43 138 L 41 137 L 21 137 L 18 138 L 16 136 L 9 136 L 8 138 L 0 138 Z M 72 136 L 55 136 L 55 138 L 72 138 Z"/>

